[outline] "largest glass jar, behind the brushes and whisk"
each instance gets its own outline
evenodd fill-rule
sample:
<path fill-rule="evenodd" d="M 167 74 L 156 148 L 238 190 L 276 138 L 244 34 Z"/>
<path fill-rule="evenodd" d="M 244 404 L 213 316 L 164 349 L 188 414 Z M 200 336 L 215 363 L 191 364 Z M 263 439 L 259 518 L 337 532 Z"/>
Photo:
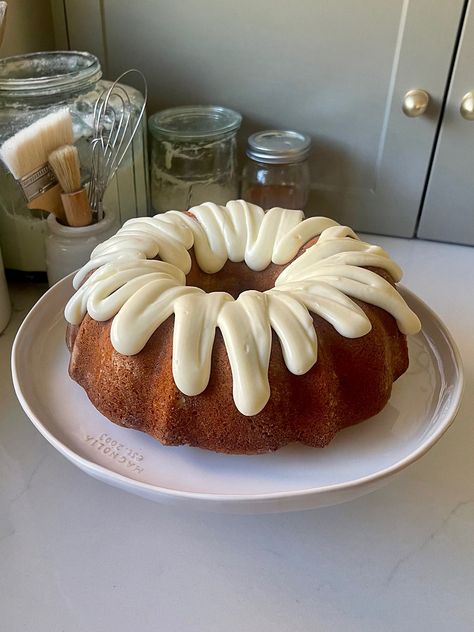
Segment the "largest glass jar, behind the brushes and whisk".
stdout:
<path fill-rule="evenodd" d="M 0 144 L 50 112 L 67 106 L 71 112 L 74 142 L 81 160 L 83 183 L 90 173 L 90 140 L 94 105 L 111 82 L 101 79 L 99 60 L 87 52 L 30 53 L 0 60 Z M 123 86 L 138 115 L 143 96 Z M 133 140 L 104 204 L 118 220 L 148 211 L 146 122 Z M 20 187 L 0 163 L 0 245 L 6 268 L 24 272 L 46 270 L 46 213 L 26 207 Z"/>

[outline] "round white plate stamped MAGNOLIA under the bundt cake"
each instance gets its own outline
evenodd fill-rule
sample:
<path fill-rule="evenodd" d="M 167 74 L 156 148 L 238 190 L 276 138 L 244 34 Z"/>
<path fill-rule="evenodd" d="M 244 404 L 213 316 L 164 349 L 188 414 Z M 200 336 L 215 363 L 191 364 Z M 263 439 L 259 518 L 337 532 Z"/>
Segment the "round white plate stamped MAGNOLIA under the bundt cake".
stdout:
<path fill-rule="evenodd" d="M 409 340 L 410 368 L 376 417 L 313 449 L 257 456 L 164 447 L 103 417 L 68 375 L 63 308 L 71 277 L 52 287 L 18 331 L 15 390 L 41 434 L 88 474 L 146 498 L 230 512 L 292 511 L 370 492 L 422 456 L 448 428 L 462 393 L 459 353 L 436 314 L 403 289 L 423 324 Z"/>

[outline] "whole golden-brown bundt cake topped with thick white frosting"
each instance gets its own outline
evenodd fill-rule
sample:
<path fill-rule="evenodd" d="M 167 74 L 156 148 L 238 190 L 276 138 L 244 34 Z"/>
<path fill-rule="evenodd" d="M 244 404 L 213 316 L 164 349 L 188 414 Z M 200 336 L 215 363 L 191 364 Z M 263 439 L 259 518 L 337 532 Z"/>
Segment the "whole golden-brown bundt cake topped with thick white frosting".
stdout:
<path fill-rule="evenodd" d="M 76 274 L 69 372 L 165 445 L 325 446 L 379 412 L 420 322 L 401 270 L 332 219 L 242 200 L 129 220 Z"/>

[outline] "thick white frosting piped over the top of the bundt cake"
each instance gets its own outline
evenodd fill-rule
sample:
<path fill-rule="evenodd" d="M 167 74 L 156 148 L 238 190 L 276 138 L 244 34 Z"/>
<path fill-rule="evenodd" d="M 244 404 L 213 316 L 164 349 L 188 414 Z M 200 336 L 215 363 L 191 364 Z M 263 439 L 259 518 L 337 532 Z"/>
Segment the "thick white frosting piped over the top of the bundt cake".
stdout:
<path fill-rule="evenodd" d="M 190 212 L 194 217 L 168 211 L 126 222 L 76 274 L 77 292 L 65 309 L 75 325 L 86 313 L 98 321 L 113 318 L 112 345 L 126 355 L 139 353 L 174 314 L 173 377 L 184 394 L 198 395 L 209 383 L 216 327 L 232 369 L 235 405 L 244 415 L 259 413 L 270 397 L 272 329 L 295 375 L 306 373 L 317 359 L 310 312 L 342 336 L 364 336 L 371 323 L 355 298 L 392 314 L 401 332 L 419 331 L 420 321 L 397 290 L 367 269 L 381 268 L 399 281 L 400 268 L 382 248 L 360 241 L 347 226 L 326 217 L 304 219 L 301 211 L 273 208 L 264 213 L 242 200 L 226 206 L 209 202 Z M 259 271 L 271 262 L 289 263 L 315 237 L 316 243 L 266 292 L 248 290 L 234 299 L 226 292 L 206 294 L 186 285 L 192 247 L 199 267 L 209 274 L 228 259 Z"/>

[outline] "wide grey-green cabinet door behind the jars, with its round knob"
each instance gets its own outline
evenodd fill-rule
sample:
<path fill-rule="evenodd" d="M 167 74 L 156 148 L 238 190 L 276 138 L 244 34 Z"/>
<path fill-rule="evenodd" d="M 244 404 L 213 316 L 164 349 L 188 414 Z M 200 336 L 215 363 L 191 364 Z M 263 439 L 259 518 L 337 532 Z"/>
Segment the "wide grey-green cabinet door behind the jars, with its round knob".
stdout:
<path fill-rule="evenodd" d="M 109 78 L 143 70 L 149 113 L 190 103 L 232 107 L 244 116 L 242 146 L 255 130 L 308 132 L 307 212 L 413 236 L 462 5 L 103 0 L 99 9 L 95 0 L 65 0 L 65 14 L 70 46 L 102 56 Z M 402 102 L 413 88 L 431 103 L 408 118 Z"/>

